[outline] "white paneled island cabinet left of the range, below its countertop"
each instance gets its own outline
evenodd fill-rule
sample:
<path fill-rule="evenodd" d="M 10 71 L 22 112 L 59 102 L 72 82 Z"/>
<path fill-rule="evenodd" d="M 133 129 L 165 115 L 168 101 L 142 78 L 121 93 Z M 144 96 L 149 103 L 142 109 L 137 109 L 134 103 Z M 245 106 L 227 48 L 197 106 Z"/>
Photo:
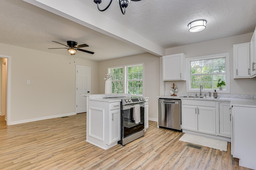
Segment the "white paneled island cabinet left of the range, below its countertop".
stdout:
<path fill-rule="evenodd" d="M 86 141 L 109 149 L 120 141 L 120 102 L 88 100 Z"/>

